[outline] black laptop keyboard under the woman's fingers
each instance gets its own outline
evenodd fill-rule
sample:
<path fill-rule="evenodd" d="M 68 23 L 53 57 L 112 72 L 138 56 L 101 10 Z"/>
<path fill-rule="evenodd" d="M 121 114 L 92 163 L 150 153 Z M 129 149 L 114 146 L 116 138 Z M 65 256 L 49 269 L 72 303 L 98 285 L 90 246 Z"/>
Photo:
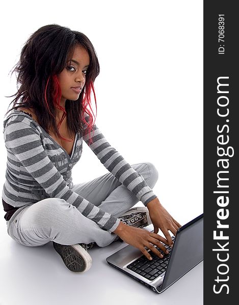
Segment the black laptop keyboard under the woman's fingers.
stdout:
<path fill-rule="evenodd" d="M 173 241 L 175 240 L 174 236 L 172 236 L 172 240 Z M 152 257 L 151 261 L 148 260 L 144 255 L 142 255 L 140 258 L 127 265 L 127 268 L 130 269 L 131 271 L 138 273 L 138 275 L 146 278 L 147 280 L 153 281 L 163 272 L 165 272 L 168 266 L 172 248 L 169 247 L 168 245 L 165 245 L 165 243 L 163 243 L 163 245 L 169 251 L 168 254 L 165 254 L 160 248 L 155 247 L 158 251 L 160 251 L 164 255 L 163 258 L 156 256 L 150 250 L 149 254 Z"/>

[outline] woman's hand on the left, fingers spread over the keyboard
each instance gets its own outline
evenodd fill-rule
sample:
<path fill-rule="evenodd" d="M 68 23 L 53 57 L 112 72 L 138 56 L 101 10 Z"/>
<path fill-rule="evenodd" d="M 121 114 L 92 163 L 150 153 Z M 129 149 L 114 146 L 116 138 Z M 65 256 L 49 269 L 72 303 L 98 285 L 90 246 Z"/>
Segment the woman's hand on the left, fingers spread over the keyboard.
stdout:
<path fill-rule="evenodd" d="M 168 244 L 168 241 L 158 234 L 151 233 L 144 229 L 128 226 L 123 222 L 120 222 L 120 224 L 113 233 L 117 234 L 129 245 L 138 248 L 149 260 L 151 256 L 145 249 L 145 247 L 151 250 L 155 255 L 160 258 L 162 258 L 163 255 L 153 245 L 163 250 L 165 254 L 168 254 L 168 250 L 161 243 L 162 241 Z"/>

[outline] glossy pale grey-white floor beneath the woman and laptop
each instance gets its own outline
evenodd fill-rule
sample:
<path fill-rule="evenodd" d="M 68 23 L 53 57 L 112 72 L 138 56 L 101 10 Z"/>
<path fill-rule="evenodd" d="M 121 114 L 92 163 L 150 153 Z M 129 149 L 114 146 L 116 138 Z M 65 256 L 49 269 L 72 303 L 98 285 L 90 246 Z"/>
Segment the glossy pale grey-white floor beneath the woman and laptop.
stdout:
<path fill-rule="evenodd" d="M 156 294 L 105 261 L 125 243 L 116 241 L 105 248 L 92 248 L 91 269 L 73 273 L 51 242 L 43 247 L 25 247 L 12 240 L 3 216 L 1 212 L 0 305 L 203 304 L 202 262 L 162 294 Z"/>

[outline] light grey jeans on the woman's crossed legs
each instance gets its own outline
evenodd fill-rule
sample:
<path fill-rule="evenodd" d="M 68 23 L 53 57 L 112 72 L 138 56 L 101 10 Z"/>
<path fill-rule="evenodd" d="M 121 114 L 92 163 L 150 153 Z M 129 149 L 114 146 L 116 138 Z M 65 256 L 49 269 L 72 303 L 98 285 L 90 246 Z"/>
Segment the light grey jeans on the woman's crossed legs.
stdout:
<path fill-rule="evenodd" d="M 158 179 L 158 172 L 149 162 L 131 165 L 143 176 L 152 189 Z M 115 217 L 123 215 L 139 199 L 111 173 L 89 182 L 76 184 L 72 191 Z M 49 241 L 62 245 L 90 243 L 99 247 L 110 245 L 116 234 L 102 230 L 72 204 L 64 199 L 47 198 L 19 208 L 7 222 L 8 234 L 21 245 L 43 246 Z"/>

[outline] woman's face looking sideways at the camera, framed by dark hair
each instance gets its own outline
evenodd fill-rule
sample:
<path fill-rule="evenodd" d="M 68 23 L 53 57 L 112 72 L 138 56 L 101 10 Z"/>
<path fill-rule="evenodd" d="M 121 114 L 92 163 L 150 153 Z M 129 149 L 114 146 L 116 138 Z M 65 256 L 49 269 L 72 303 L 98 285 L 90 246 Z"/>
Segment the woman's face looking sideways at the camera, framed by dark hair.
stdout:
<path fill-rule="evenodd" d="M 76 101 L 79 98 L 86 82 L 89 65 L 88 52 L 82 46 L 76 46 L 71 62 L 69 60 L 63 71 L 57 75 L 62 92 L 61 106 L 65 106 L 66 100 Z"/>

